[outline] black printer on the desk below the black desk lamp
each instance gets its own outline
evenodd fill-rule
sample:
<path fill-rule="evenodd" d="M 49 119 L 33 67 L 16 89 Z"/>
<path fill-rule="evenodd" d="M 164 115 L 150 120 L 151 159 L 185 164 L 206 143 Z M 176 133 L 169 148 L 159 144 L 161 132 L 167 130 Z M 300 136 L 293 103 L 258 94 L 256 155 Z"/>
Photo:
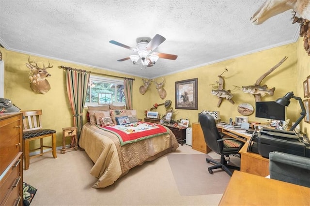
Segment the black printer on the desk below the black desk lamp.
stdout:
<path fill-rule="evenodd" d="M 310 144 L 293 131 L 262 128 L 252 140 L 251 151 L 265 158 L 273 151 L 310 157 Z"/>

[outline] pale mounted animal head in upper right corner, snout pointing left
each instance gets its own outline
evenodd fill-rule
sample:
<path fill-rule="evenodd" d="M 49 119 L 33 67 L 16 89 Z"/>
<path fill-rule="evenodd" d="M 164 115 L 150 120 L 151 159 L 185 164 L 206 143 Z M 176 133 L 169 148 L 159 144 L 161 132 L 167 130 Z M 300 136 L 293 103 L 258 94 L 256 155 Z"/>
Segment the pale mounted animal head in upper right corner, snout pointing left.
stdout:
<path fill-rule="evenodd" d="M 252 15 L 251 23 L 259 25 L 267 19 L 293 9 L 303 19 L 310 20 L 310 0 L 266 0 Z"/>

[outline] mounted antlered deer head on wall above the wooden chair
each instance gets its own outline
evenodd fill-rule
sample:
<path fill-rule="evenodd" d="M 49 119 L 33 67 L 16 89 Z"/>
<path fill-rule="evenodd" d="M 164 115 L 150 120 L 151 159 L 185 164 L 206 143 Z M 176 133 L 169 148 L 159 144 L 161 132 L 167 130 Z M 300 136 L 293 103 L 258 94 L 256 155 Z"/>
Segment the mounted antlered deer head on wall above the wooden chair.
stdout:
<path fill-rule="evenodd" d="M 35 63 L 34 60 L 31 61 L 29 57 L 28 58 L 29 64 L 26 63 L 26 66 L 30 69 L 30 73 L 29 73 L 30 88 L 32 89 L 32 91 L 36 93 L 45 94 L 50 89 L 50 85 L 47 79 L 45 79 L 46 77 L 51 76 L 51 74 L 47 72 L 47 69 L 52 68 L 53 65 L 51 65 L 48 62 L 47 67 L 45 67 L 45 65 L 43 64 L 43 68 L 40 68 L 38 64 Z"/>

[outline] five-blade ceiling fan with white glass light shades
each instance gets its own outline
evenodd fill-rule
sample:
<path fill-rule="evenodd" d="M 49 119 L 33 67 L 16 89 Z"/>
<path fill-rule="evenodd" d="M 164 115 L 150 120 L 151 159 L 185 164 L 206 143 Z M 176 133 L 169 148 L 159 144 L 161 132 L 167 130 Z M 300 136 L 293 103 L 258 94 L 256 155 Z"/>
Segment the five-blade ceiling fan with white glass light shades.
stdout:
<path fill-rule="evenodd" d="M 131 59 L 132 63 L 134 65 L 142 64 L 144 67 L 152 67 L 155 65 L 158 58 L 162 59 L 171 59 L 175 60 L 178 56 L 173 54 L 164 54 L 164 53 L 158 53 L 153 52 L 159 46 L 161 43 L 163 43 L 166 40 L 165 37 L 156 34 L 153 39 L 149 37 L 140 37 L 137 38 L 137 45 L 136 48 L 127 46 L 125 44 L 116 42 L 114 40 L 109 41 L 111 44 L 115 44 L 118 46 L 122 46 L 126 49 L 132 50 L 134 52 L 137 52 L 138 55 L 130 55 L 129 57 L 126 57 L 124 59 L 119 59 L 117 61 L 125 61 L 128 59 Z M 140 61 L 139 61 L 140 59 Z"/>

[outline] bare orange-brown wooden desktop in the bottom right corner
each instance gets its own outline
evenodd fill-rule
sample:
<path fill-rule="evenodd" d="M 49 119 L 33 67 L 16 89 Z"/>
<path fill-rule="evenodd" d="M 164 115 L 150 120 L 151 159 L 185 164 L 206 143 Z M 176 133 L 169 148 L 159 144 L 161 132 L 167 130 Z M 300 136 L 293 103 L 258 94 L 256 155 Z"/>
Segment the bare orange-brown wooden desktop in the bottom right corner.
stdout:
<path fill-rule="evenodd" d="M 310 188 L 234 171 L 219 206 L 309 205 Z"/>

